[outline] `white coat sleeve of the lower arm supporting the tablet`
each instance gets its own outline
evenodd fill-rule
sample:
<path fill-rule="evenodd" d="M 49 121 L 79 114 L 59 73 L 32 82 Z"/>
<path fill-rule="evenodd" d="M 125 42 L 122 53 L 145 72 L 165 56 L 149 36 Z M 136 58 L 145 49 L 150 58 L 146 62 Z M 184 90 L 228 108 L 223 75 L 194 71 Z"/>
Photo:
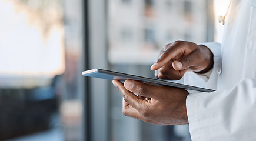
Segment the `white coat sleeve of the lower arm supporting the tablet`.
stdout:
<path fill-rule="evenodd" d="M 256 140 L 256 80 L 187 96 L 192 140 Z"/>

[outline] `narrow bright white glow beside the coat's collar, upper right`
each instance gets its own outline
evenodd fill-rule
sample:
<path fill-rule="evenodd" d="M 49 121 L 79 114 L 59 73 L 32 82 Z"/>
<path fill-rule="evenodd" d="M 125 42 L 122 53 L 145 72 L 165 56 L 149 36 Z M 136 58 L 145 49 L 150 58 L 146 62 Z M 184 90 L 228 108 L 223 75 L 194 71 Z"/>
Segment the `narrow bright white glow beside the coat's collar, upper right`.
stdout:
<path fill-rule="evenodd" d="M 224 26 L 218 22 L 218 16 L 224 16 L 228 10 L 230 0 L 214 0 L 215 13 L 215 41 L 222 43 Z"/>

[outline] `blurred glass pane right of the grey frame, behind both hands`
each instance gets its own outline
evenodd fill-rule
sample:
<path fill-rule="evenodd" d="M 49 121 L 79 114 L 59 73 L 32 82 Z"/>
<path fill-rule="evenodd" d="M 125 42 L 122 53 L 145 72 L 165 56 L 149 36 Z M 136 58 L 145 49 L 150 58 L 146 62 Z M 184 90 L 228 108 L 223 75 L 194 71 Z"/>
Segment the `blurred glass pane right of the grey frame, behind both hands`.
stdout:
<path fill-rule="evenodd" d="M 213 41 L 212 1 L 109 0 L 108 61 L 111 70 L 154 78 L 150 65 L 176 40 Z M 188 126 L 155 126 L 123 116 L 122 96 L 110 92 L 111 140 L 191 140 Z"/>

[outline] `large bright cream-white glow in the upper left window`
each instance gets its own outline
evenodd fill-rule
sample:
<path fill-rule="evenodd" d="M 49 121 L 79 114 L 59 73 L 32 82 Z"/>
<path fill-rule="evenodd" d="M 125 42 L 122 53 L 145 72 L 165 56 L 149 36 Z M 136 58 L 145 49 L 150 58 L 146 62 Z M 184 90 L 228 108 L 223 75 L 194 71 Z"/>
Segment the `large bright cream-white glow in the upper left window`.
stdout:
<path fill-rule="evenodd" d="M 52 77 L 64 72 L 62 25 L 50 26 L 44 36 L 39 16 L 15 1 L 0 0 L 0 18 L 0 76 Z"/>

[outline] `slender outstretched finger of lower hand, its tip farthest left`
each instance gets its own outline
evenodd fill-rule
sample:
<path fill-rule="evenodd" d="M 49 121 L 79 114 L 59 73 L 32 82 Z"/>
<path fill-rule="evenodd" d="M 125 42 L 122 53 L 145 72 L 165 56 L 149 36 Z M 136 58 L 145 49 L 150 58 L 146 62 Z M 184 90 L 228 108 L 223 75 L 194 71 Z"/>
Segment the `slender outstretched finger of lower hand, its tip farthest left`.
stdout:
<path fill-rule="evenodd" d="M 121 92 L 124 100 L 135 109 L 140 109 L 141 105 L 147 102 L 147 100 L 139 99 L 136 95 L 134 95 L 134 93 L 129 92 L 127 89 L 125 89 L 122 82 L 119 82 L 118 80 L 113 80 L 112 83 Z"/>

